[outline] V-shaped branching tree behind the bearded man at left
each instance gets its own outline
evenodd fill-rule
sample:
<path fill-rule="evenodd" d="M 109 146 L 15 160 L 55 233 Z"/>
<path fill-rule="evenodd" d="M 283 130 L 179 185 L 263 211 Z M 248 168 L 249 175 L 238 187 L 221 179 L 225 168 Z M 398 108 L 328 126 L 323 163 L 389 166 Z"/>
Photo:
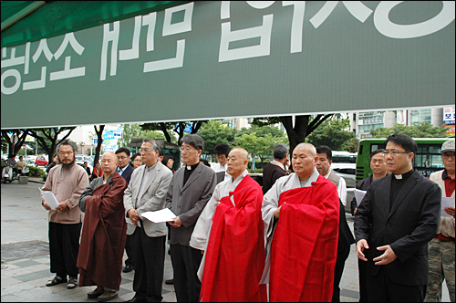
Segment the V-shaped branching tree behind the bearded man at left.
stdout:
<path fill-rule="evenodd" d="M 41 146 L 46 151 L 48 159 L 51 160 L 54 158 L 54 153 L 56 152 L 58 143 L 66 140 L 74 129 L 76 129 L 76 126 L 54 127 L 49 129 L 33 129 L 28 131 L 30 136 L 34 137 L 39 146 Z M 62 139 L 58 140 L 58 135 L 65 131 L 68 131 L 67 134 Z"/>

